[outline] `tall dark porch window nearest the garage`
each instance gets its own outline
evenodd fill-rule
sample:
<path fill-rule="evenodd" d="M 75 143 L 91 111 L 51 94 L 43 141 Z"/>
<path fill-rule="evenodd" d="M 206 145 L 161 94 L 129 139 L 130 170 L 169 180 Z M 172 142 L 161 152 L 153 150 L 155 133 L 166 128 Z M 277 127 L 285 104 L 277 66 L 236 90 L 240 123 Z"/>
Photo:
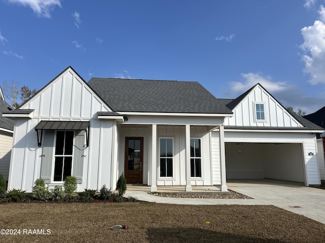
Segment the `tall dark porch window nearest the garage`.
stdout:
<path fill-rule="evenodd" d="M 201 139 L 191 138 L 191 177 L 201 177 Z"/>

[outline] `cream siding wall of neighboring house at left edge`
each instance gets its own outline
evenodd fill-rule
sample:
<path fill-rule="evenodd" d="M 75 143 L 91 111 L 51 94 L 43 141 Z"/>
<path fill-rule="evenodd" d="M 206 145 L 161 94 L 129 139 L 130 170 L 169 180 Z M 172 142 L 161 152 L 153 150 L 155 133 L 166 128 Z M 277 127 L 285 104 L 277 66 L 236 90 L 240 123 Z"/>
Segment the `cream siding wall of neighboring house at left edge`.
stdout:
<path fill-rule="evenodd" d="M 3 173 L 6 181 L 9 175 L 12 136 L 12 133 L 0 131 L 0 173 Z"/>

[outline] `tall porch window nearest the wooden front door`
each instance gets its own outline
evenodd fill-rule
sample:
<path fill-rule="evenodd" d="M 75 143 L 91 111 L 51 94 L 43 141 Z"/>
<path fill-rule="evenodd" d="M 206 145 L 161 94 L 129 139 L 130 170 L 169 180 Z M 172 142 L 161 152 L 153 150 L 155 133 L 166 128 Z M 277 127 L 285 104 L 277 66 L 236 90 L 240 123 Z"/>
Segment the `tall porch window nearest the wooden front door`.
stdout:
<path fill-rule="evenodd" d="M 173 177 L 173 139 L 160 138 L 160 177 Z"/>

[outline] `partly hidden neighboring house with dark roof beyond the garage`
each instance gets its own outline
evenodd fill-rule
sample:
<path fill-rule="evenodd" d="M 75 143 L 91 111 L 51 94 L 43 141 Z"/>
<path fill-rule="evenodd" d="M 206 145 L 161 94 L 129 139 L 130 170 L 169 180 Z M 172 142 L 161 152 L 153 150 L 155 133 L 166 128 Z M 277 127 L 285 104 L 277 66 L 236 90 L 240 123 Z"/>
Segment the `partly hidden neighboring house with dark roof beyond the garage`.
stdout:
<path fill-rule="evenodd" d="M 325 129 L 325 106 L 312 114 L 305 115 L 304 118 Z M 320 179 L 325 182 L 325 132 L 320 134 L 320 136 L 317 135 L 317 148 L 317 161 L 320 170 Z"/>

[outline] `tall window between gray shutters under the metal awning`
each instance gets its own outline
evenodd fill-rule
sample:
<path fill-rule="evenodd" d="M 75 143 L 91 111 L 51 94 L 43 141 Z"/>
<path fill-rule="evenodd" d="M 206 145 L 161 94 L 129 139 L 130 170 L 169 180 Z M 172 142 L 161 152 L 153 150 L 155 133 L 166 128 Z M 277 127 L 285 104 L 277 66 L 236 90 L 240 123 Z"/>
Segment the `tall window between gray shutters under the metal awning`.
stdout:
<path fill-rule="evenodd" d="M 73 137 L 73 131 L 56 132 L 53 181 L 64 181 L 71 176 Z"/>

